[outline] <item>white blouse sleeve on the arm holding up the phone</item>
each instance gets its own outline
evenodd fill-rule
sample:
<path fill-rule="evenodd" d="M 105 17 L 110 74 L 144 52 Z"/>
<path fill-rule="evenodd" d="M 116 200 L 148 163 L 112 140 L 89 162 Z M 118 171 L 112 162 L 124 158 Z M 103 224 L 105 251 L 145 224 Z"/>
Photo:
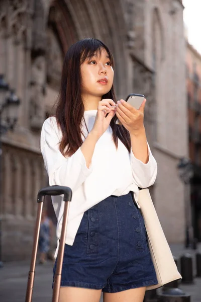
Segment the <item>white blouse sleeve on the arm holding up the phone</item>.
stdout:
<path fill-rule="evenodd" d="M 154 159 L 149 144 L 148 145 L 148 156 L 149 161 L 144 164 L 140 160 L 136 159 L 131 148 L 131 168 L 135 184 L 140 188 L 148 188 L 154 184 L 157 175 L 157 163 Z"/>

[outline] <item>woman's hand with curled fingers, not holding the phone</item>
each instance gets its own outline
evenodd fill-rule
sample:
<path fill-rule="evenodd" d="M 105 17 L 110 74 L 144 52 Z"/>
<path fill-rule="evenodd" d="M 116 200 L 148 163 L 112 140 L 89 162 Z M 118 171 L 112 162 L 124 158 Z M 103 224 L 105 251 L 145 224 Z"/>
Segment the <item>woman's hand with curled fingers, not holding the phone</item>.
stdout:
<path fill-rule="evenodd" d="M 112 118 L 115 116 L 116 111 L 116 103 L 113 100 L 104 99 L 98 102 L 94 125 L 90 131 L 91 133 L 96 135 L 97 139 L 99 139 L 100 136 L 102 136 L 108 129 Z"/>

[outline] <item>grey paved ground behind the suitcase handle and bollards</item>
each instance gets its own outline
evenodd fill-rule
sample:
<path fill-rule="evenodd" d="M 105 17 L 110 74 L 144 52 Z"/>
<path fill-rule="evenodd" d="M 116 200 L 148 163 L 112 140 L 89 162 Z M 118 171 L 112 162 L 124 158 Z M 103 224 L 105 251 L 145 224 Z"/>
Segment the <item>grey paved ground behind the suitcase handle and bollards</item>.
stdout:
<path fill-rule="evenodd" d="M 194 254 L 197 252 L 194 250 L 184 250 L 180 245 L 170 246 L 170 248 L 175 257 L 180 257 L 186 252 L 194 256 Z M 198 249 L 201 251 L 201 245 L 198 247 Z M 0 268 L 1 302 L 25 301 L 29 265 L 29 261 L 10 262 L 5 263 L 4 267 Z M 52 262 L 48 262 L 45 265 L 36 265 L 33 302 L 51 301 L 52 268 Z M 191 295 L 191 302 L 201 302 L 201 278 L 194 278 L 193 284 L 180 284 L 179 288 L 182 289 L 185 293 Z M 103 302 L 103 297 L 100 302 Z"/>

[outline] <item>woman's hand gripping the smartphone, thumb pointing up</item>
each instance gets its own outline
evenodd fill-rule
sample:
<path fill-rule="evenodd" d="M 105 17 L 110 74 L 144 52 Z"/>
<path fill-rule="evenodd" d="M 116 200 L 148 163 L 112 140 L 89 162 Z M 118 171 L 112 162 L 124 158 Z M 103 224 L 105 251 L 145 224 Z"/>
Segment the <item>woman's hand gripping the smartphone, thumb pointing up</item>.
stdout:
<path fill-rule="evenodd" d="M 139 131 L 144 130 L 145 103 L 146 99 L 144 99 L 140 108 L 136 109 L 123 99 L 117 102 L 116 115 L 130 134 L 137 134 Z"/>

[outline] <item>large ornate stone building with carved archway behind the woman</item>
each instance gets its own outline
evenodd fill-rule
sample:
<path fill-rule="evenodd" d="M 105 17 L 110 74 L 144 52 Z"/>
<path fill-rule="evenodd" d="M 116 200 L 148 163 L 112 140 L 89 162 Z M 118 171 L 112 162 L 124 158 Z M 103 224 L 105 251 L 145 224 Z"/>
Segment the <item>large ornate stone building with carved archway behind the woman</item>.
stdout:
<path fill-rule="evenodd" d="M 3 260 L 30 257 L 36 196 L 47 184 L 40 154 L 43 121 L 56 100 L 68 47 L 95 37 L 112 50 L 118 98 L 147 98 L 147 138 L 158 162 L 150 189 L 169 242 L 183 242 L 184 189 L 176 165 L 187 156 L 185 40 L 179 0 L 2 0 L 0 73 L 21 99 L 3 140 Z M 171 221 L 171 223 L 170 223 Z"/>

